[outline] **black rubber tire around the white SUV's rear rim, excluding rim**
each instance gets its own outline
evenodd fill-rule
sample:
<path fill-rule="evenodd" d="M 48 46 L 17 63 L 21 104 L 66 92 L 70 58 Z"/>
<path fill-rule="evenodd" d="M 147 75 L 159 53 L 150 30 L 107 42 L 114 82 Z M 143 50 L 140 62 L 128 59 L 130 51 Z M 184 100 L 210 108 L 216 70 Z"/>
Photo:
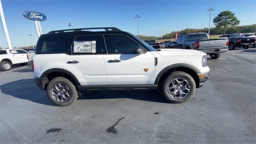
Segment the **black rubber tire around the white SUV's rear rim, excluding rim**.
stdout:
<path fill-rule="evenodd" d="M 70 98 L 68 98 L 68 100 L 64 101 L 64 102 L 58 102 L 57 100 L 55 100 L 54 98 L 52 98 L 51 95 L 51 88 L 52 86 L 54 86 L 55 84 L 64 84 L 65 86 L 67 86 L 69 88 L 69 95 Z M 52 103 L 56 104 L 57 106 L 68 106 L 70 104 L 72 104 L 74 101 L 76 101 L 76 99 L 78 98 L 78 91 L 76 89 L 76 86 L 67 78 L 64 77 L 56 77 L 54 79 L 52 79 L 46 88 L 46 92 L 48 95 L 48 98 L 51 100 Z"/>

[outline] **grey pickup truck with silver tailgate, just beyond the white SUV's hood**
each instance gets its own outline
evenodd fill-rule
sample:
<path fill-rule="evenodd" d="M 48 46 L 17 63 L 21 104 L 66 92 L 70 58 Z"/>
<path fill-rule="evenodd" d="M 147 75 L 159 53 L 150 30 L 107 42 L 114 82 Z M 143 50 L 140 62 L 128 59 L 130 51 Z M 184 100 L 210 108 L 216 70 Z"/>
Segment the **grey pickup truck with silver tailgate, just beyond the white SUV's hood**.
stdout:
<path fill-rule="evenodd" d="M 212 59 L 220 57 L 220 53 L 228 51 L 227 38 L 209 38 L 204 32 L 184 34 L 179 37 L 172 48 L 200 50 L 210 54 Z"/>

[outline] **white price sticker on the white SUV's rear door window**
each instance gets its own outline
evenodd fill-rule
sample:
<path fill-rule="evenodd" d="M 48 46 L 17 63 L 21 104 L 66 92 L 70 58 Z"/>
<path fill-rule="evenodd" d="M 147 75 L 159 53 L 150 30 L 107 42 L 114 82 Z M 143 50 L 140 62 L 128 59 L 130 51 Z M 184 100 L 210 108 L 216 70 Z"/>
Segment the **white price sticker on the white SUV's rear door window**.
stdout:
<path fill-rule="evenodd" d="M 96 53 L 96 41 L 74 41 L 73 52 Z"/>

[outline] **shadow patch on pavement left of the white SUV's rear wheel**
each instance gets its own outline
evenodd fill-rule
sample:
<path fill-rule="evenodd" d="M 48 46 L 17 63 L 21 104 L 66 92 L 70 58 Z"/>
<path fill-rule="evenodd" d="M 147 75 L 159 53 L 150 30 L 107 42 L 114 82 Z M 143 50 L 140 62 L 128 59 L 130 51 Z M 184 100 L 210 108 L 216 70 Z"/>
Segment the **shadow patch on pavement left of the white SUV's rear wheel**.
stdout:
<path fill-rule="evenodd" d="M 8 94 L 16 98 L 29 100 L 39 104 L 54 106 L 48 99 L 46 92 L 38 88 L 32 78 L 2 84 L 0 89 L 3 94 Z"/>

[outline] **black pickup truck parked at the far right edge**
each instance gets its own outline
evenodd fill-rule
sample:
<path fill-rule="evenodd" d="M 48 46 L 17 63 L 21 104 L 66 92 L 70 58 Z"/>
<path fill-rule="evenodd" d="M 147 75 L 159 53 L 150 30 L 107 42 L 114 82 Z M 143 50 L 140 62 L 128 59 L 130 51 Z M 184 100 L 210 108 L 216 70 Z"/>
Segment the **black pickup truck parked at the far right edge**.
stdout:
<path fill-rule="evenodd" d="M 226 34 L 220 36 L 220 38 L 228 38 L 229 50 L 234 50 L 236 46 L 240 47 L 243 46 L 244 49 L 250 48 L 250 46 L 255 46 L 256 38 L 255 37 L 244 37 L 242 34 Z"/>

